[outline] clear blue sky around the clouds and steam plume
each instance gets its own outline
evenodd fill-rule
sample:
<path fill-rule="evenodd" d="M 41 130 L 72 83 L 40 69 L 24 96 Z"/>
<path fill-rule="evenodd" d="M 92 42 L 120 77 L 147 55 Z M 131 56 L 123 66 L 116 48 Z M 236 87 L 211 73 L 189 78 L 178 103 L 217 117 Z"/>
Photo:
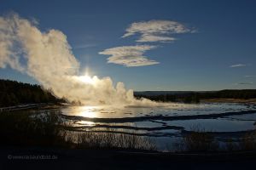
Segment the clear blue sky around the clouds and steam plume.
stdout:
<path fill-rule="evenodd" d="M 134 90 L 256 88 L 255 1 L 13 1 L 1 0 L 0 14 L 38 20 L 41 31 L 62 31 L 81 72 L 112 77 Z M 142 32 L 122 37 L 132 23 L 175 21 L 189 31 L 165 35 L 170 42 L 137 42 Z M 159 64 L 107 63 L 108 48 L 148 45 L 143 53 Z M 233 65 L 233 66 L 231 66 Z M 10 68 L 0 77 L 37 83 Z"/>

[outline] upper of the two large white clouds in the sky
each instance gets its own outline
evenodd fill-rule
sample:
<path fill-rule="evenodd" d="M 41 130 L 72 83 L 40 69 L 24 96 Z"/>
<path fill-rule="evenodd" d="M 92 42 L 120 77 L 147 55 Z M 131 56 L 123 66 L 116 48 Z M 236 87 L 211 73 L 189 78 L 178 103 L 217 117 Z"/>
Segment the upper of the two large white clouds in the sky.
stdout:
<path fill-rule="evenodd" d="M 183 24 L 172 20 L 149 20 L 143 22 L 132 23 L 126 29 L 123 37 L 130 37 L 135 34 L 140 34 L 141 37 L 137 42 L 171 42 L 174 37 L 171 34 L 194 32 Z"/>

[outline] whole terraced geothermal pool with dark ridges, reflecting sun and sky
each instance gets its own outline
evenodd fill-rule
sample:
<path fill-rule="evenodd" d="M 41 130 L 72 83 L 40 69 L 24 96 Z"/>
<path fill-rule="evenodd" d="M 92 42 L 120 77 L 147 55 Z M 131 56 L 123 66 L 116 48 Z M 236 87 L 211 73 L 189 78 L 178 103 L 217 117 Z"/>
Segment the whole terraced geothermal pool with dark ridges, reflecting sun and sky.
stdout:
<path fill-rule="evenodd" d="M 238 103 L 178 104 L 161 107 L 67 106 L 61 114 L 74 131 L 127 133 L 154 139 L 160 150 L 200 126 L 219 140 L 254 129 L 256 105 Z"/>

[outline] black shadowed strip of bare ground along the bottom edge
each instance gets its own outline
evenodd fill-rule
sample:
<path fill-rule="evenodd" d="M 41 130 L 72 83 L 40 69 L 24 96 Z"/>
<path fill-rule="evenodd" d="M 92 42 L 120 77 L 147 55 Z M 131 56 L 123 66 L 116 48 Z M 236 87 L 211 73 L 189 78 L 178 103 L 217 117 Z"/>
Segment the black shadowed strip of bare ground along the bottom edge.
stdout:
<path fill-rule="evenodd" d="M 244 169 L 256 152 L 170 154 L 120 150 L 0 149 L 0 169 Z"/>

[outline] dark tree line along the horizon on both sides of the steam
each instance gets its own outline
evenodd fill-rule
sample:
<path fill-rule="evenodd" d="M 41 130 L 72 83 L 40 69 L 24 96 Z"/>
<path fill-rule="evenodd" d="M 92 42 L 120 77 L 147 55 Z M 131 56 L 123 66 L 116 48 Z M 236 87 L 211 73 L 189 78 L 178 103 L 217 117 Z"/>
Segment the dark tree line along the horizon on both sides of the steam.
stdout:
<path fill-rule="evenodd" d="M 147 98 L 162 102 L 199 103 L 201 99 L 256 99 L 256 89 L 220 90 L 209 92 L 182 92 L 176 94 L 143 93 L 134 94 L 137 99 Z M 58 103 L 67 99 L 56 98 L 50 89 L 44 89 L 37 84 L 29 84 L 0 79 L 0 107 L 30 104 L 30 103 Z"/>

